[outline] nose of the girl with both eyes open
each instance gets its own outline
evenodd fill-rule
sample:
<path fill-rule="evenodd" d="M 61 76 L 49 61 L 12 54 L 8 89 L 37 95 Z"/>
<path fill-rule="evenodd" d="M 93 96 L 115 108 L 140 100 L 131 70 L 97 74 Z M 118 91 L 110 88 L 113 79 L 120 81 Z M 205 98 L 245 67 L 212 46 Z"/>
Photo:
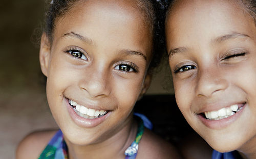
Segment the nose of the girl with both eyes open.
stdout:
<path fill-rule="evenodd" d="M 100 69 L 87 70 L 81 78 L 79 86 L 91 98 L 107 97 L 111 92 L 110 75 L 110 73 Z"/>

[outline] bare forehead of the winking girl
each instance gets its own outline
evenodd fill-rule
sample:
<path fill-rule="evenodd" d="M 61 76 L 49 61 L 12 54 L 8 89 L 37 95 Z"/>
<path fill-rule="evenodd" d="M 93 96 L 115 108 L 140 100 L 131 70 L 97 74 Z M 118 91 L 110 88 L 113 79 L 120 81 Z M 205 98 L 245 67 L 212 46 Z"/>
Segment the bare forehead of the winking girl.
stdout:
<path fill-rule="evenodd" d="M 255 31 L 253 18 L 238 3 L 220 0 L 176 2 L 166 19 L 166 38 L 167 41 L 173 40 L 169 42 L 171 45 L 181 38 L 194 37 L 194 43 L 195 40 L 209 42 L 225 34 L 236 32 L 252 35 Z"/>

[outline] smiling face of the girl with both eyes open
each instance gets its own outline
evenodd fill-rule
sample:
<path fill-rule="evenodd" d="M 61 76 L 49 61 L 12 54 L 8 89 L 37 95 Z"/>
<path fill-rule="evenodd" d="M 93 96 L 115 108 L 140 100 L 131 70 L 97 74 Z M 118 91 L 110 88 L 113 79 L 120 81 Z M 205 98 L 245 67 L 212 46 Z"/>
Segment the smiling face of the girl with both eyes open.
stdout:
<path fill-rule="evenodd" d="M 44 40 L 41 44 L 49 106 L 72 143 L 102 142 L 131 122 L 145 89 L 152 43 L 134 6 L 133 1 L 79 2 L 57 19 L 51 50 Z"/>

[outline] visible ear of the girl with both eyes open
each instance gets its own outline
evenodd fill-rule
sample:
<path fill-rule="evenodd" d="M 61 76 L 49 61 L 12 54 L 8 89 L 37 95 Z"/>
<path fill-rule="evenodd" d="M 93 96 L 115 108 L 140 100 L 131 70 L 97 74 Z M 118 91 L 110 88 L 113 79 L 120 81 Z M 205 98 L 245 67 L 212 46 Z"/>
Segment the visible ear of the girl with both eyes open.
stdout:
<path fill-rule="evenodd" d="M 41 71 L 46 77 L 48 76 L 50 52 L 51 46 L 49 38 L 47 37 L 46 33 L 42 33 L 39 52 L 39 62 L 41 66 Z"/>

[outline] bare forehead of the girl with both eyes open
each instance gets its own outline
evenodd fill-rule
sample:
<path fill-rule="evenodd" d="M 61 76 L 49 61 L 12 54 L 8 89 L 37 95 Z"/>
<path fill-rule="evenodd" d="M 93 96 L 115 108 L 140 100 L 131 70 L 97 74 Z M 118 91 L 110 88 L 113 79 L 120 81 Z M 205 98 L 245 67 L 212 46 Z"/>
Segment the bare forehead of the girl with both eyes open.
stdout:
<path fill-rule="evenodd" d="M 63 38 L 67 37 L 65 35 L 74 32 L 83 37 L 80 39 L 90 39 L 86 41 L 91 41 L 95 49 L 134 50 L 150 58 L 150 29 L 144 25 L 142 15 L 136 13 L 138 10 L 133 7 L 123 8 L 128 4 L 133 6 L 130 1 L 110 0 L 82 1 L 76 4 L 56 21 L 53 44 L 61 44 L 63 39 L 67 39 Z"/>

